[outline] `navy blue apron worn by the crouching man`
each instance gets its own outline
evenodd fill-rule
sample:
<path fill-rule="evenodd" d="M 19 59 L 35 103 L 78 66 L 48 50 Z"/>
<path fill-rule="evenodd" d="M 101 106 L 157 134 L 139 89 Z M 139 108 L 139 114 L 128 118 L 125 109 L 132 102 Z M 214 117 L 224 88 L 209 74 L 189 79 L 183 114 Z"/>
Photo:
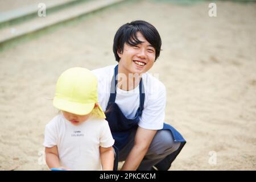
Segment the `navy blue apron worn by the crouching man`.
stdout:
<path fill-rule="evenodd" d="M 142 110 L 144 106 L 144 86 L 142 79 L 139 82 L 139 108 L 135 114 L 135 117 L 132 119 L 128 119 L 122 113 L 119 106 L 115 103 L 115 97 L 117 96 L 117 74 L 118 74 L 118 65 L 114 68 L 114 76 L 112 78 L 111 86 L 110 86 L 110 97 L 108 106 L 106 107 L 106 120 L 109 123 L 109 127 L 113 138 L 115 140 L 114 149 L 115 149 L 115 162 L 114 162 L 114 170 L 117 170 L 118 167 L 118 151 L 121 150 L 125 144 L 127 143 L 127 139 L 130 134 L 130 130 L 134 127 L 138 127 L 139 118 L 142 115 Z M 162 130 L 170 130 L 172 133 L 172 137 L 174 138 L 174 142 L 181 142 L 180 147 L 178 150 L 173 152 L 172 154 L 168 155 L 164 158 L 159 165 L 155 165 L 156 168 L 159 170 L 168 170 L 171 167 L 172 161 L 176 158 L 179 154 L 181 149 L 185 144 L 185 140 L 182 135 L 174 129 L 174 127 L 167 125 L 164 123 L 164 127 Z M 175 154 L 174 154 L 175 153 Z"/>

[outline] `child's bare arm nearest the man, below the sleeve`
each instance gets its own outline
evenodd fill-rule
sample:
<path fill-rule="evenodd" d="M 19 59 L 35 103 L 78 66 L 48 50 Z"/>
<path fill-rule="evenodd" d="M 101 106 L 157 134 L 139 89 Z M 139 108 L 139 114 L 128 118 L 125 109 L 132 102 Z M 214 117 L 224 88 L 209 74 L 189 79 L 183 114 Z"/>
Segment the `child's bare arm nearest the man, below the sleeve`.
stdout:
<path fill-rule="evenodd" d="M 102 169 L 105 171 L 113 171 L 114 148 L 113 147 L 105 148 L 100 146 L 100 155 L 101 155 Z"/>

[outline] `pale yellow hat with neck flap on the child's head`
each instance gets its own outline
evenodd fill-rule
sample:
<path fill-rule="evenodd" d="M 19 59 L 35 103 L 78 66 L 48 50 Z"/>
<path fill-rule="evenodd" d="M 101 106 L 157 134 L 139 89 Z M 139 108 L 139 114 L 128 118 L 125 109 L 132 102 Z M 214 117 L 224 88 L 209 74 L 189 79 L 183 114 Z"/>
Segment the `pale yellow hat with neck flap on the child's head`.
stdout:
<path fill-rule="evenodd" d="M 97 77 L 86 68 L 70 68 L 64 71 L 56 84 L 53 106 L 77 115 L 92 112 L 98 118 L 106 118 L 98 102 Z"/>

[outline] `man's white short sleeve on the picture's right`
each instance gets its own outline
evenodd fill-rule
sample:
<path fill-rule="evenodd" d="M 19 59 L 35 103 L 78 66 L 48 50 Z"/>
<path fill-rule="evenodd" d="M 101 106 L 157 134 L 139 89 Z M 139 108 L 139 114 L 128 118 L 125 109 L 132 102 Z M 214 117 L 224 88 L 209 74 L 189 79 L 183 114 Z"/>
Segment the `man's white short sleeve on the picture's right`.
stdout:
<path fill-rule="evenodd" d="M 163 129 L 166 109 L 166 87 L 159 82 L 154 92 L 148 93 L 147 105 L 142 111 L 138 125 L 148 130 Z"/>

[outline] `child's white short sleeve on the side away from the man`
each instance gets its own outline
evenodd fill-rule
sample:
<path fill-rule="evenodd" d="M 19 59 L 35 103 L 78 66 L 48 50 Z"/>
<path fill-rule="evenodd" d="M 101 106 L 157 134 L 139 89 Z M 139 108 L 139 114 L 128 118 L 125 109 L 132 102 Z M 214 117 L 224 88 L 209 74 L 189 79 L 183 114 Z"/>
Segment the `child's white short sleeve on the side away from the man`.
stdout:
<path fill-rule="evenodd" d="M 57 131 L 55 122 L 49 122 L 44 131 L 44 147 L 53 147 L 57 145 Z"/>

